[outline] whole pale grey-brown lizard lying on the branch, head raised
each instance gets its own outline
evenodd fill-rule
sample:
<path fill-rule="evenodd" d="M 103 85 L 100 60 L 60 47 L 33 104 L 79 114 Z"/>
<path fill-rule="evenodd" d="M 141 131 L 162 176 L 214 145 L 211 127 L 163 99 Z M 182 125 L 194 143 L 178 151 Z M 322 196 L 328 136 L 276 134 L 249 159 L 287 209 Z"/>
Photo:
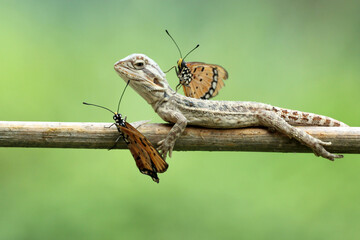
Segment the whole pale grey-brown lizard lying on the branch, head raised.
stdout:
<path fill-rule="evenodd" d="M 194 99 L 174 91 L 159 65 L 144 54 L 131 54 L 114 64 L 120 77 L 152 106 L 155 112 L 173 127 L 158 142 L 158 150 L 166 159 L 172 156 L 176 140 L 187 125 L 207 128 L 244 128 L 264 126 L 294 138 L 311 148 L 316 156 L 333 161 L 342 158 L 328 152 L 324 142 L 295 126 L 348 127 L 330 117 L 275 107 L 250 101 L 216 101 Z"/>

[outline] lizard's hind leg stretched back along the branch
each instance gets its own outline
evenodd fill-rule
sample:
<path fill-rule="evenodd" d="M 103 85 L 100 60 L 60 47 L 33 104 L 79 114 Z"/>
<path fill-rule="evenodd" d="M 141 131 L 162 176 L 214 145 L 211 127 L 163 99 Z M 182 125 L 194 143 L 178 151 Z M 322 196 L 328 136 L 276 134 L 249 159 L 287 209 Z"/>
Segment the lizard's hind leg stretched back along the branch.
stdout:
<path fill-rule="evenodd" d="M 283 118 L 281 118 L 274 112 L 264 111 L 258 113 L 257 116 L 264 126 L 271 129 L 276 129 L 277 131 L 286 134 L 290 138 L 295 138 L 302 144 L 310 147 L 314 151 L 316 156 L 322 156 L 331 161 L 333 161 L 335 158 L 343 157 L 343 155 L 336 155 L 326 151 L 324 146 L 331 145 L 331 142 L 323 142 L 320 139 L 314 138 L 313 136 L 309 135 L 305 131 L 291 126 Z"/>

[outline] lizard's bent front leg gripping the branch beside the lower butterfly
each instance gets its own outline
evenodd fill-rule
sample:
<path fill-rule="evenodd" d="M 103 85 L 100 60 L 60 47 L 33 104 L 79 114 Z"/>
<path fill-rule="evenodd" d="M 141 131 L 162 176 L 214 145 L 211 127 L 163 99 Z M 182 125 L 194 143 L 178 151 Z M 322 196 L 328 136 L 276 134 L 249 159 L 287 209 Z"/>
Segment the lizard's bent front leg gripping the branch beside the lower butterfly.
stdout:
<path fill-rule="evenodd" d="M 167 119 L 171 122 L 174 122 L 175 125 L 171 128 L 170 132 L 165 137 L 165 139 L 158 142 L 159 145 L 158 150 L 161 153 L 164 160 L 166 159 L 168 152 L 169 152 L 169 157 L 171 157 L 175 142 L 184 132 L 187 125 L 187 119 L 180 112 L 168 113 Z"/>

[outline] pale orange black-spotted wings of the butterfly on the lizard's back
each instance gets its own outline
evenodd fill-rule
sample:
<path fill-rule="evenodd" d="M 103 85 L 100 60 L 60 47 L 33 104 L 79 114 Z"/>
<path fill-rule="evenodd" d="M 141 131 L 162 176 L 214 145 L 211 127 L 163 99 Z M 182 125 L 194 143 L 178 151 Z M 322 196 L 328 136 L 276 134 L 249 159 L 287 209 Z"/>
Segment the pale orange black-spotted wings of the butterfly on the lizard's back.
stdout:
<path fill-rule="evenodd" d="M 187 62 L 192 79 L 188 85 L 183 85 L 184 93 L 188 97 L 209 99 L 215 97 L 228 79 L 227 71 L 215 64 L 202 62 Z"/>

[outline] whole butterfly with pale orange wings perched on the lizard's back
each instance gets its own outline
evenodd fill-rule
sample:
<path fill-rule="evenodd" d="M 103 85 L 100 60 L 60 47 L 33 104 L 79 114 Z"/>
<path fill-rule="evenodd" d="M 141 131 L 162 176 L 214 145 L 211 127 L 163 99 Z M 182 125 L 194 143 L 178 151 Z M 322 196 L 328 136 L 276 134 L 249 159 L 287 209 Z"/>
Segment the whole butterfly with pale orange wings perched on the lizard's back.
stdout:
<path fill-rule="evenodd" d="M 219 90 L 225 85 L 224 80 L 228 79 L 228 72 L 222 66 L 216 64 L 185 62 L 185 58 L 200 45 L 196 45 L 196 47 L 183 58 L 174 38 L 167 30 L 165 31 L 173 40 L 180 53 L 177 68 L 175 67 L 176 75 L 179 78 L 179 84 L 176 86 L 176 90 L 182 86 L 185 95 L 192 98 L 210 99 L 215 97 L 219 93 Z"/>

